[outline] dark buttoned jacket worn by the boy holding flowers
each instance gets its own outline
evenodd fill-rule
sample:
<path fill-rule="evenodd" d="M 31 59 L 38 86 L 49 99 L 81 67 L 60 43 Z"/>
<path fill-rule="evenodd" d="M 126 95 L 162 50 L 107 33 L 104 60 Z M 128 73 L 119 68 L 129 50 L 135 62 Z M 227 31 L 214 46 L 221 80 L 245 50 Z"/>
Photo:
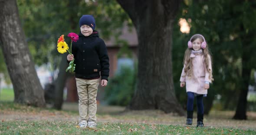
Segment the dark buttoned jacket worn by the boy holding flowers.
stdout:
<path fill-rule="evenodd" d="M 109 58 L 105 42 L 98 37 L 98 32 L 84 36 L 79 32 L 79 40 L 72 42 L 72 54 L 75 58 L 75 77 L 108 80 Z"/>

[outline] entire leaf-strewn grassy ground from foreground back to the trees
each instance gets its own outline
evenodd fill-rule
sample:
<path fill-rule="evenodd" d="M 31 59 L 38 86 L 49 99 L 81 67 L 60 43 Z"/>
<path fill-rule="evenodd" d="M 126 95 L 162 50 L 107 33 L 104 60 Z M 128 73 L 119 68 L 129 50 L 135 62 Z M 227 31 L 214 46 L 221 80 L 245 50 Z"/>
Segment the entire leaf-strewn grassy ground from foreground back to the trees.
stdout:
<path fill-rule="evenodd" d="M 77 104 L 63 108 L 77 109 Z M 256 113 L 249 120 L 232 120 L 233 112 L 213 112 L 205 117 L 205 127 L 184 124 L 185 117 L 159 110 L 128 111 L 115 106 L 98 106 L 97 129 L 81 129 L 78 111 L 59 111 L 0 102 L 1 135 L 256 135 Z M 118 113 L 119 112 L 119 113 Z M 196 115 L 194 115 L 196 116 Z"/>

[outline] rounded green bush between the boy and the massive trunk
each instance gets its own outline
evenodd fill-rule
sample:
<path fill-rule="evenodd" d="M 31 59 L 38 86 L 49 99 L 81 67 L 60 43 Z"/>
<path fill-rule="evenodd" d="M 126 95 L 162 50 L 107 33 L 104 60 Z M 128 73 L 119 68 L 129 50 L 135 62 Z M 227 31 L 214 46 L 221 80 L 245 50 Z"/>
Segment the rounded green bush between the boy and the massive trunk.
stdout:
<path fill-rule="evenodd" d="M 121 72 L 109 79 L 108 87 L 105 89 L 107 103 L 109 105 L 127 106 L 134 95 L 136 78 L 137 70 L 121 67 Z"/>

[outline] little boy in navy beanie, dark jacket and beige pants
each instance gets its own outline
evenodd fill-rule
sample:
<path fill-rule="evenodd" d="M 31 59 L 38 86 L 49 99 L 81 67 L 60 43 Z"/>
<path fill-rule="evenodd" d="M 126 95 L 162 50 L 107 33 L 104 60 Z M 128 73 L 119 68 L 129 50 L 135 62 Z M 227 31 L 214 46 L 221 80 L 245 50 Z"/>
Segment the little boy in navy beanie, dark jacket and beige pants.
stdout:
<path fill-rule="evenodd" d="M 105 42 L 94 30 L 95 19 L 93 16 L 83 15 L 79 20 L 79 26 L 79 40 L 72 43 L 72 55 L 68 55 L 67 60 L 72 61 L 75 58 L 75 80 L 79 96 L 79 126 L 95 128 L 99 78 L 101 76 L 101 85 L 107 86 L 109 58 Z"/>

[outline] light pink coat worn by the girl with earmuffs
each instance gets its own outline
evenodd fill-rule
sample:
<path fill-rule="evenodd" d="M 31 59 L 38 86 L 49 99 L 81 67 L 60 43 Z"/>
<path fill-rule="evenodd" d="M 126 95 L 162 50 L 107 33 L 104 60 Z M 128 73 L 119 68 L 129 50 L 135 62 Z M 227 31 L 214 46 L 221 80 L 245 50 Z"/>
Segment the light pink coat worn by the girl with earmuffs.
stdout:
<path fill-rule="evenodd" d="M 204 64 L 204 55 L 191 54 L 190 57 L 192 58 L 194 77 L 188 78 L 187 76 L 184 76 L 185 72 L 183 67 L 180 81 L 186 82 L 187 92 L 193 92 L 197 94 L 207 94 L 207 89 L 204 89 L 204 84 L 205 84 L 205 81 L 211 83 L 211 80 L 209 79 L 210 74 L 209 72 L 207 72 L 206 66 Z M 210 67 L 210 70 L 212 71 L 210 55 L 208 55 L 208 59 L 209 59 L 209 67 Z"/>

